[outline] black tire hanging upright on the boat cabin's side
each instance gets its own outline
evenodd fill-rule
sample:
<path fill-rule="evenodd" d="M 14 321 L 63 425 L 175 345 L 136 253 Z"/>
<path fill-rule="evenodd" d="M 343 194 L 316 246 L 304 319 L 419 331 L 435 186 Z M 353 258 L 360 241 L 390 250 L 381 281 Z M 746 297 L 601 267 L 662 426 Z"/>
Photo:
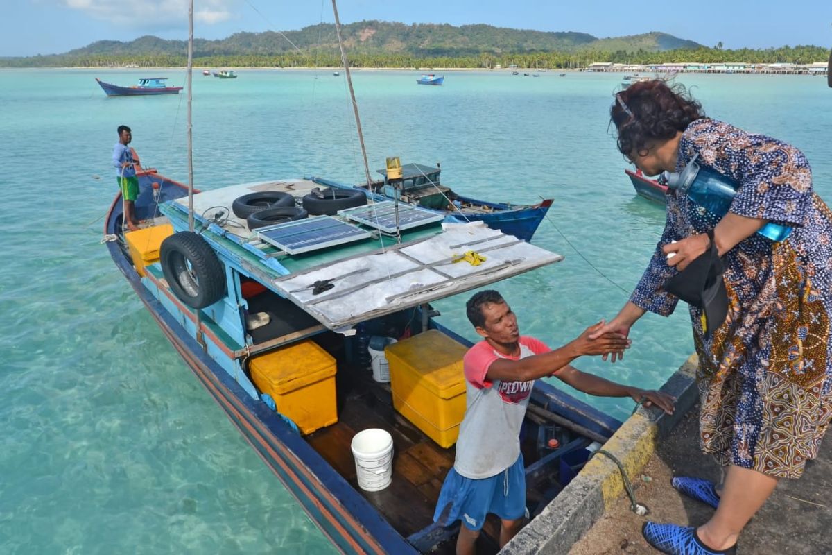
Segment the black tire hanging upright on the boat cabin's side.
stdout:
<path fill-rule="evenodd" d="M 225 296 L 225 270 L 200 235 L 180 231 L 163 240 L 161 270 L 174 295 L 194 309 L 204 309 Z"/>

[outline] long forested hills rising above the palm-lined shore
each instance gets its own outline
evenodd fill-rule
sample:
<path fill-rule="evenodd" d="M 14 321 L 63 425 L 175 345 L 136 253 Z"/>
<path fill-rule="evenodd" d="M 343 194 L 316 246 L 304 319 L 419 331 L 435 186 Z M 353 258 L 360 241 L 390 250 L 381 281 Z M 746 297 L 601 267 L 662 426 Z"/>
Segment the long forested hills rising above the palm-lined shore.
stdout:
<path fill-rule="evenodd" d="M 302 51 L 329 52 L 338 49 L 335 27 L 321 23 L 300 31 L 239 32 L 228 38 L 194 40 L 195 57 L 270 55 L 294 51 L 289 41 Z M 362 21 L 342 27 L 345 46 L 351 54 L 405 54 L 411 57 L 466 57 L 483 53 L 575 52 L 583 48 L 660 52 L 701 45 L 661 32 L 631 37 L 599 39 L 584 32 L 542 32 L 492 27 L 490 25 L 453 25 Z M 286 39 L 289 39 L 288 41 Z M 605 47 L 607 45 L 607 47 Z M 185 41 L 141 37 L 131 42 L 99 41 L 67 52 L 73 57 L 181 54 Z"/>

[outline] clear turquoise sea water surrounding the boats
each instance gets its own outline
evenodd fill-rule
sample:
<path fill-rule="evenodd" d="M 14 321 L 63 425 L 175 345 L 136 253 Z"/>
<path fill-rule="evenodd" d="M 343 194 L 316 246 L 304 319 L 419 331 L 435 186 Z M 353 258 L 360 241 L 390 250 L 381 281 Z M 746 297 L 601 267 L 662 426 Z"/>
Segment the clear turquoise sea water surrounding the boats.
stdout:
<path fill-rule="evenodd" d="M 186 97 L 106 98 L 93 77 L 159 76 L 185 81 L 179 70 L 0 70 L 0 553 L 334 553 L 99 245 L 116 126 L 131 126 L 146 166 L 186 181 Z M 355 72 L 371 167 L 385 156 L 441 161 L 443 182 L 472 196 L 553 197 L 534 242 L 566 260 L 499 289 L 522 332 L 552 346 L 611 318 L 626 294 L 609 280 L 635 284 L 664 220 L 635 196 L 607 128 L 622 76 L 446 76 L 418 87 L 418 72 Z M 363 178 L 343 72 L 193 79 L 197 187 Z M 825 81 L 679 80 L 709 116 L 800 147 L 832 200 Z M 463 301 L 440 303 L 440 321 L 474 339 Z M 692 352 L 683 305 L 669 319 L 647 315 L 632 337 L 623 362 L 576 365 L 658 387 Z M 588 400 L 620 419 L 632 408 Z"/>

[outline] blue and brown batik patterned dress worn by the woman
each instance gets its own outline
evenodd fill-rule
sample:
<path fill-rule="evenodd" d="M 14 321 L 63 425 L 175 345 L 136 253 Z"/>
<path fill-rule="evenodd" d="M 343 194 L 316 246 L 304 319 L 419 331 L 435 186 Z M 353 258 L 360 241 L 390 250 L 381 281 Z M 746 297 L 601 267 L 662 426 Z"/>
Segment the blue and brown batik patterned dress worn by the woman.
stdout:
<path fill-rule="evenodd" d="M 676 171 L 697 153 L 740 184 L 731 212 L 794 228 L 778 243 L 752 235 L 723 255 L 730 308 L 711 339 L 691 307 L 702 448 L 723 465 L 799 478 L 832 415 L 832 212 L 793 146 L 703 118 L 682 134 Z M 677 299 L 661 286 L 676 270 L 661 247 L 718 221 L 671 192 L 664 233 L 630 300 L 670 315 Z"/>

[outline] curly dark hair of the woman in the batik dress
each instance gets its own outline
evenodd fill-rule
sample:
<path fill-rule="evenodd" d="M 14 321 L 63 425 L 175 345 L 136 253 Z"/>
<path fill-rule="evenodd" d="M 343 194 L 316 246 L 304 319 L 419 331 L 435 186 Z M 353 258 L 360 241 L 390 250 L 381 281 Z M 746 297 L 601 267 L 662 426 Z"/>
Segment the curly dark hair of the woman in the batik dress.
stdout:
<path fill-rule="evenodd" d="M 633 152 L 643 156 L 647 142 L 671 139 L 702 117 L 702 105 L 684 85 L 668 87 L 662 79 L 633 83 L 616 93 L 610 108 L 610 121 L 618 130 L 618 150 L 627 160 Z"/>

